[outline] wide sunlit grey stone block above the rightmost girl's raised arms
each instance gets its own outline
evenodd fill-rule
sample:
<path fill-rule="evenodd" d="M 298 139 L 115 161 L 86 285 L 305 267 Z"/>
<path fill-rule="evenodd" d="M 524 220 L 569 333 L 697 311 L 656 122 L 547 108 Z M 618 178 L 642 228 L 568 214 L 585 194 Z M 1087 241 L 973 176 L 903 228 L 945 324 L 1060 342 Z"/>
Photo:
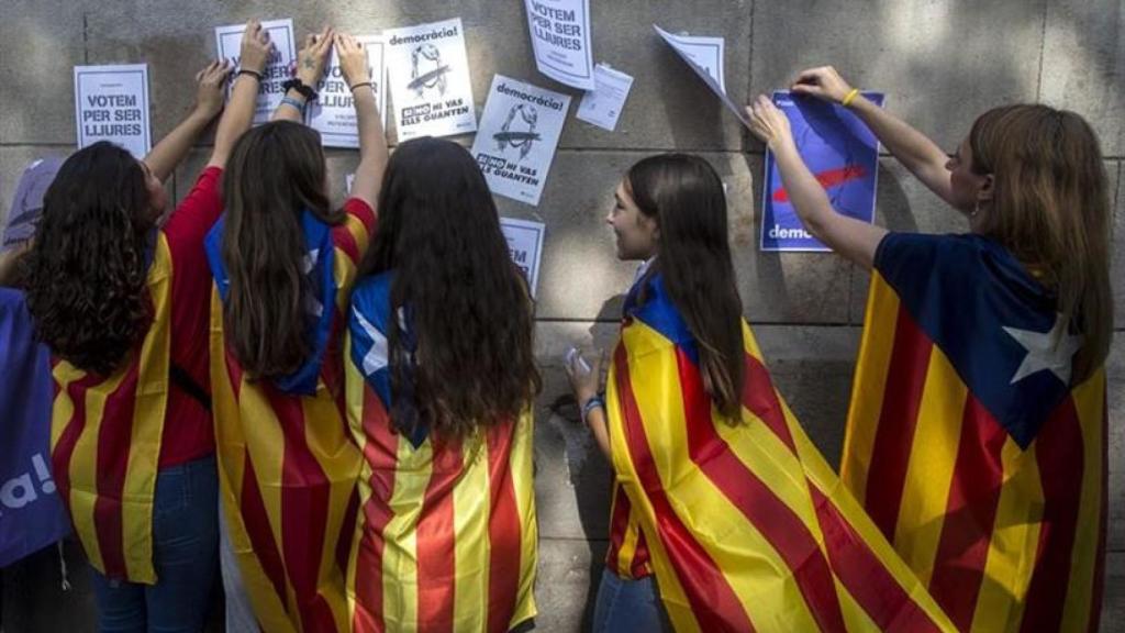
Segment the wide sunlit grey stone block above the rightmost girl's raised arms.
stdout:
<path fill-rule="evenodd" d="M 750 92 L 831 64 L 952 149 L 986 109 L 1035 100 L 1044 2 L 756 2 Z"/>

